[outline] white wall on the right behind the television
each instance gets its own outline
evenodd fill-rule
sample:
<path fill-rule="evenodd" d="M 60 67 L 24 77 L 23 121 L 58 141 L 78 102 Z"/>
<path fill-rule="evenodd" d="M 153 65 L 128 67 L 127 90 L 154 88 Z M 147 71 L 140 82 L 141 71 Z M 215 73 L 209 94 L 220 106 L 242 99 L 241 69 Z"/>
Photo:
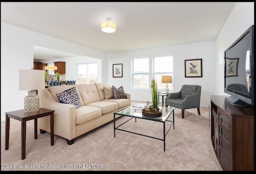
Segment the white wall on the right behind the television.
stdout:
<path fill-rule="evenodd" d="M 252 25 L 254 25 L 254 2 L 236 2 L 234 9 L 216 39 L 216 56 L 218 55 L 219 46 L 223 45 L 224 50 L 227 49 Z M 216 57 L 216 60 L 218 60 L 218 57 Z M 224 60 L 224 57 L 222 60 Z M 224 63 L 216 61 L 215 68 L 215 94 L 230 96 L 224 93 Z"/>

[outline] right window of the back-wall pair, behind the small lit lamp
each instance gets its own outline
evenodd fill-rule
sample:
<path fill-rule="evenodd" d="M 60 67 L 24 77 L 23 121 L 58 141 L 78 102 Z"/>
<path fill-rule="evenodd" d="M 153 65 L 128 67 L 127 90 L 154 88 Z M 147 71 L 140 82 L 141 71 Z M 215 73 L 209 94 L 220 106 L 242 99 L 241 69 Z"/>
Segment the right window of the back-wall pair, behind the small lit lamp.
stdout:
<path fill-rule="evenodd" d="M 166 83 L 162 83 L 163 75 L 173 75 L 173 56 L 153 57 L 153 78 L 156 79 L 158 90 L 165 88 Z M 168 83 L 168 87 L 172 90 L 172 83 Z"/>

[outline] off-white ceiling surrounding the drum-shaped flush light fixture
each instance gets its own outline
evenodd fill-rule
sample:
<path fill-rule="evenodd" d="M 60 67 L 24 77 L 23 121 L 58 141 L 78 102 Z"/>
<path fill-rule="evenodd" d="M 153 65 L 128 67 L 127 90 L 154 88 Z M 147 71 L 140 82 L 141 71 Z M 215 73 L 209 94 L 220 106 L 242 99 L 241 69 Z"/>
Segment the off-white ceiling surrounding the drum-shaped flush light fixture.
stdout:
<path fill-rule="evenodd" d="M 109 53 L 216 40 L 235 4 L 1 2 L 1 22 Z M 107 17 L 116 23 L 116 32 L 101 31 Z M 35 50 L 34 59 L 49 59 L 50 50 L 40 50 Z M 76 56 L 55 56 L 55 51 L 53 59 Z"/>

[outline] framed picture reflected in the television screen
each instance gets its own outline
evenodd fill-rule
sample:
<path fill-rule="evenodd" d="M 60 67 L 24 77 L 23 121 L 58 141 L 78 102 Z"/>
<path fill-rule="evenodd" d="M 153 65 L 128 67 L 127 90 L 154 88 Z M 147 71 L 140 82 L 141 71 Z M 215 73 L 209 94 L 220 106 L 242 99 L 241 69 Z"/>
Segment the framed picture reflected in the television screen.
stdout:
<path fill-rule="evenodd" d="M 230 59 L 226 57 L 226 77 L 238 76 L 237 67 L 238 67 L 239 58 Z"/>

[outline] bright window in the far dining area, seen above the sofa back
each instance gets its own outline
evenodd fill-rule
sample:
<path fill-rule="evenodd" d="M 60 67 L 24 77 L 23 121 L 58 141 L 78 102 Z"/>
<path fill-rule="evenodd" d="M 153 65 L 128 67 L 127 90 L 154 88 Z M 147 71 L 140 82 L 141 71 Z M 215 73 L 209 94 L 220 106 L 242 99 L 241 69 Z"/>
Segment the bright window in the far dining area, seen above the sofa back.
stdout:
<path fill-rule="evenodd" d="M 78 84 L 97 83 L 97 63 L 77 64 Z"/>

